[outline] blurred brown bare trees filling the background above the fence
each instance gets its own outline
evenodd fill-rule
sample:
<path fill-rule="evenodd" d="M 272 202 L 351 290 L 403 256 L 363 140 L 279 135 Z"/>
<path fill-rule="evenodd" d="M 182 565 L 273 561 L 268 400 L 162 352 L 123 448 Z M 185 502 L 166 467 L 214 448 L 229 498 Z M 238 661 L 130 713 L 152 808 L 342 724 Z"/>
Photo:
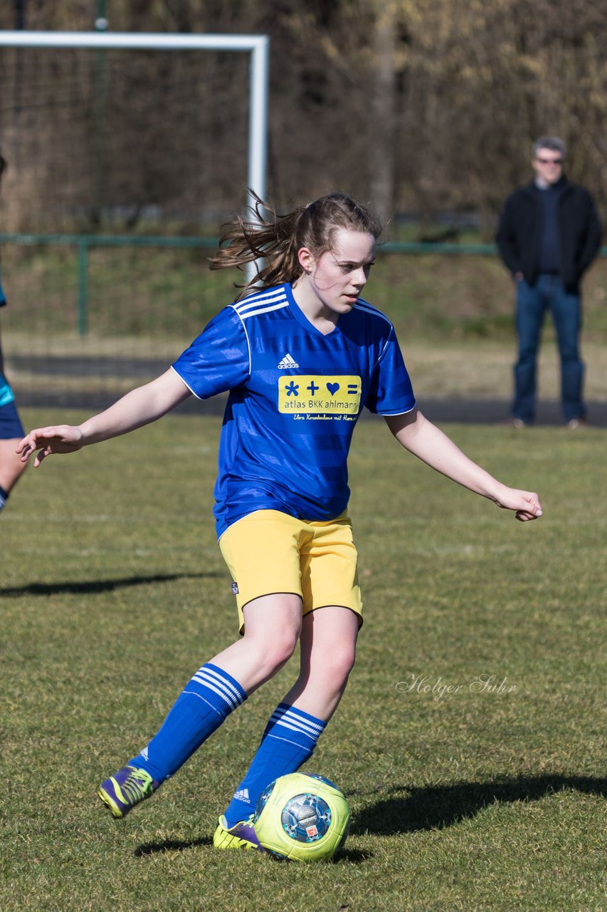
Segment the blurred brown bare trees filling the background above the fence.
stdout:
<path fill-rule="evenodd" d="M 0 28 L 14 26 L 10 5 Z M 29 5 L 26 27 L 90 29 L 90 5 Z M 431 221 L 480 213 L 491 233 L 557 133 L 568 171 L 607 200 L 607 10 L 595 0 L 124 0 L 115 30 L 271 36 L 269 194 L 343 189 Z M 144 212 L 196 230 L 244 200 L 247 61 L 237 55 L 0 48 L 11 162 L 5 230 L 66 230 Z M 9 180 L 9 178 L 7 178 Z M 95 219 L 93 219 L 95 221 Z M 101 219 L 103 224 L 103 219 Z"/>

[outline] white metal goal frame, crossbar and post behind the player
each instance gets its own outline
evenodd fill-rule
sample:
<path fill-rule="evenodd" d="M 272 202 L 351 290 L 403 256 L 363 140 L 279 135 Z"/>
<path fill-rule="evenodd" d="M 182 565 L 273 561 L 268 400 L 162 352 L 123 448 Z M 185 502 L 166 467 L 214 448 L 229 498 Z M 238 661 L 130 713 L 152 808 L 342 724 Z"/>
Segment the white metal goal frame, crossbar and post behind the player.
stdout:
<path fill-rule="evenodd" d="M 139 32 L 29 32 L 0 30 L 0 47 L 91 47 L 96 50 L 241 51 L 251 55 L 249 78 L 249 150 L 247 188 L 265 199 L 268 154 L 268 83 L 270 38 L 267 35 L 160 35 Z M 248 192 L 249 205 L 254 203 Z M 248 264 L 247 276 L 255 275 Z"/>

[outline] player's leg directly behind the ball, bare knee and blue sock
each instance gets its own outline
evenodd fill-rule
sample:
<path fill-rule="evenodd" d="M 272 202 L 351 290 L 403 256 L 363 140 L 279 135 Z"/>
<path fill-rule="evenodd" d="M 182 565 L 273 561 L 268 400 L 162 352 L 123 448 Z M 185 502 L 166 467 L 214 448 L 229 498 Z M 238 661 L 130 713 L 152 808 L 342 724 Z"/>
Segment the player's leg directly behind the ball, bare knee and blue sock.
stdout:
<path fill-rule="evenodd" d="M 310 759 L 345 691 L 359 620 L 355 611 L 341 606 L 317 608 L 304 616 L 299 676 L 274 710 L 218 830 L 246 821 L 269 782 L 296 772 Z"/>

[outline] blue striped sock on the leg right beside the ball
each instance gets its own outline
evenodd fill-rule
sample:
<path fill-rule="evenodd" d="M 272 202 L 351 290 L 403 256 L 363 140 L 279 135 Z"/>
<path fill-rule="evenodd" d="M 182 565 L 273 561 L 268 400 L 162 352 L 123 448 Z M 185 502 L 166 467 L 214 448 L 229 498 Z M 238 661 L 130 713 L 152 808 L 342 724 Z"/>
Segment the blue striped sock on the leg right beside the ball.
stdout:
<path fill-rule="evenodd" d="M 276 707 L 252 764 L 225 812 L 228 826 L 251 816 L 266 785 L 287 772 L 299 770 L 312 756 L 325 725 L 322 719 L 287 703 Z"/>

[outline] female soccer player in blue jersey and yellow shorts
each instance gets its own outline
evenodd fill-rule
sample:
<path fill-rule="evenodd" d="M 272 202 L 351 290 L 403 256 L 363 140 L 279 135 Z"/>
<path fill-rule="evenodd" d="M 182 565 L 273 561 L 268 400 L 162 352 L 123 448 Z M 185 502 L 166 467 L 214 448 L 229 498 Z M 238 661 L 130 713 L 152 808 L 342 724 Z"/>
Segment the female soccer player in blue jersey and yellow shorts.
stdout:
<path fill-rule="evenodd" d="M 380 231 L 372 213 L 329 193 L 285 216 L 258 201 L 255 214 L 231 224 L 211 265 L 267 265 L 165 374 L 77 427 L 32 430 L 19 446 L 24 461 L 39 450 L 38 466 L 156 420 L 190 394 L 230 391 L 214 513 L 242 637 L 196 672 L 159 732 L 98 791 L 115 817 L 127 814 L 299 641 L 299 676 L 220 817 L 219 848 L 258 846 L 257 799 L 312 755 L 355 660 L 362 602 L 346 460 L 363 406 L 438 472 L 523 522 L 541 515 L 537 494 L 496 481 L 417 410 L 394 327 L 360 297 Z"/>

